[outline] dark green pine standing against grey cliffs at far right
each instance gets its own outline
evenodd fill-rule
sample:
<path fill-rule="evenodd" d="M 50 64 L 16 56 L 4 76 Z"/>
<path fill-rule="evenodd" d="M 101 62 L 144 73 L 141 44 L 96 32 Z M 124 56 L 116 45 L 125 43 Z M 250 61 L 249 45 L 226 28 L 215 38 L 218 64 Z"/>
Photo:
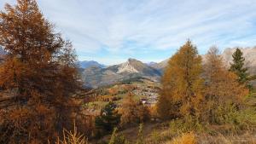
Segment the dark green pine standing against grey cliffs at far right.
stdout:
<path fill-rule="evenodd" d="M 238 77 L 237 81 L 240 84 L 247 84 L 247 87 L 251 87 L 249 84 L 248 68 L 244 66 L 245 58 L 242 56 L 241 49 L 236 48 L 236 51 L 232 55 L 233 61 L 230 63 L 230 72 L 235 72 Z"/>

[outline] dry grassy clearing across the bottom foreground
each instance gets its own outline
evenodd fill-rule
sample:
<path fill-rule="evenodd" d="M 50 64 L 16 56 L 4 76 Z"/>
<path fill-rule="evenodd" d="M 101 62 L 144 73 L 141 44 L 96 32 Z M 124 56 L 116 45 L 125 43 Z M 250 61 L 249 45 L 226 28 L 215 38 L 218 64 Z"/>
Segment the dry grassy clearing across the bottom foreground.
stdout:
<path fill-rule="evenodd" d="M 178 132 L 182 130 L 173 130 L 171 124 L 144 124 L 143 125 L 143 144 L 256 144 L 255 131 L 244 130 L 242 133 L 235 132 L 222 133 L 225 126 L 219 126 L 218 129 L 212 126 L 214 133 L 202 131 Z M 228 127 L 228 126 L 227 126 Z M 210 128 L 209 128 L 210 129 Z M 115 135 L 130 144 L 135 144 L 138 139 L 138 127 L 127 130 L 121 130 Z M 220 131 L 217 131 L 220 130 Z M 111 139 L 107 135 L 98 144 L 106 143 Z M 96 144 L 96 141 L 92 142 Z M 118 143 L 121 144 L 121 143 Z"/>

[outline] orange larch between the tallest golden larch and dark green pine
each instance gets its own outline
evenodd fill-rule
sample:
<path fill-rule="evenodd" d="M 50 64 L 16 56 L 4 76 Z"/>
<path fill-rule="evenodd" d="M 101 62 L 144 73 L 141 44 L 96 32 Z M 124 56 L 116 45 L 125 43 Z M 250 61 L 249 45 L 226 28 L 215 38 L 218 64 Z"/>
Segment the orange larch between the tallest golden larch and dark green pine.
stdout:
<path fill-rule="evenodd" d="M 222 57 L 217 47 L 209 49 L 204 64 L 205 86 L 205 111 L 202 117 L 206 121 L 216 123 L 217 117 L 214 113 L 219 107 L 241 106 L 244 97 L 248 94 L 245 84 L 239 84 L 234 72 L 229 72 L 224 66 Z"/>

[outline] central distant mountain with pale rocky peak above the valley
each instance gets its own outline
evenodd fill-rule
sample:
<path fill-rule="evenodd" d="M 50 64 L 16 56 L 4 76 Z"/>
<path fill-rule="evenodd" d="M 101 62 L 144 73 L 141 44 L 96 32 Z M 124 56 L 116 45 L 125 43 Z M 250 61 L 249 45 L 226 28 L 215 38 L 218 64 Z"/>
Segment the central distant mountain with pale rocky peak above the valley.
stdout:
<path fill-rule="evenodd" d="M 125 63 L 106 68 L 99 66 L 85 68 L 82 78 L 85 86 L 96 88 L 131 78 L 150 78 L 157 81 L 160 79 L 160 72 L 139 60 L 129 59 Z"/>

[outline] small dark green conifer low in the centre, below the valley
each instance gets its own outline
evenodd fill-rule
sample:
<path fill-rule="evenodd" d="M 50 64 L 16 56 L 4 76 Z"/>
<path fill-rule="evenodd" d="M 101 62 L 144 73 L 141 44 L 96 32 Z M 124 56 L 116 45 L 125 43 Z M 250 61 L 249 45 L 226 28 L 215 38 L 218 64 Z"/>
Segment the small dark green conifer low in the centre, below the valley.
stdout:
<path fill-rule="evenodd" d="M 109 102 L 102 108 L 100 116 L 95 119 L 96 129 L 111 132 L 114 127 L 118 126 L 120 122 L 120 115 L 116 110 L 116 105 Z"/>

